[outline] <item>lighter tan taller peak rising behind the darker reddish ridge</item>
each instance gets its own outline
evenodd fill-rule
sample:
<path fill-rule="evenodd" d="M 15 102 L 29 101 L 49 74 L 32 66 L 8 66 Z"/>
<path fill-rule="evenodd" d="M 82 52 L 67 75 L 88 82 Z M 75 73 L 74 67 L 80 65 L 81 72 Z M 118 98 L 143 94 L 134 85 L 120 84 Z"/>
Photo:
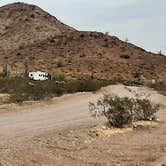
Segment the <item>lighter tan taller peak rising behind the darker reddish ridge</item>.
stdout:
<path fill-rule="evenodd" d="M 73 30 L 34 5 L 15 3 L 0 8 L 0 48 L 3 50 Z"/>

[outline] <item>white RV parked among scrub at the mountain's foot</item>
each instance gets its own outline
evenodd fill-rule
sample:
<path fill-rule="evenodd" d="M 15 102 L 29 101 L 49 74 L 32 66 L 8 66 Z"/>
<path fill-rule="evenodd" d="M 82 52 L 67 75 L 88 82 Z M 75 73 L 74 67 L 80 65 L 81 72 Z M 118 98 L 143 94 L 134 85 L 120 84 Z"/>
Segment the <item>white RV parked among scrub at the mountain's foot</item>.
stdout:
<path fill-rule="evenodd" d="M 36 72 L 29 72 L 28 77 L 31 80 L 35 81 L 45 81 L 49 79 L 49 74 L 46 72 L 36 71 Z"/>

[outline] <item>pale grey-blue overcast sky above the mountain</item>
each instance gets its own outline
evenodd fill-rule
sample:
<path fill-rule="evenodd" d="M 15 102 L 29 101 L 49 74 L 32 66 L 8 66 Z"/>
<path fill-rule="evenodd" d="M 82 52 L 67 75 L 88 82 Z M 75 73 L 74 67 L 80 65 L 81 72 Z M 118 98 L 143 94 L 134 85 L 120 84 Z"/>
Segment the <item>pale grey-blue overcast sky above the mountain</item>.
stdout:
<path fill-rule="evenodd" d="M 0 0 L 0 6 L 16 2 Z M 78 30 L 110 32 L 166 54 L 166 0 L 24 0 Z"/>

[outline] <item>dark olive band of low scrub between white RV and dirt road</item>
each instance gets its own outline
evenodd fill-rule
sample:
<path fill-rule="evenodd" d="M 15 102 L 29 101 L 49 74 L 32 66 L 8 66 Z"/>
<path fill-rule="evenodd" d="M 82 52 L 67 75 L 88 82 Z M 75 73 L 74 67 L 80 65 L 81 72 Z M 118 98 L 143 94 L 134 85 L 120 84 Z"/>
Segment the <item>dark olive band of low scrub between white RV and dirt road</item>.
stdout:
<path fill-rule="evenodd" d="M 24 77 L 0 78 L 0 93 L 10 94 L 10 102 L 41 100 L 65 93 L 96 91 L 109 82 L 91 79 L 67 80 L 58 75 L 54 80 L 32 81 Z"/>

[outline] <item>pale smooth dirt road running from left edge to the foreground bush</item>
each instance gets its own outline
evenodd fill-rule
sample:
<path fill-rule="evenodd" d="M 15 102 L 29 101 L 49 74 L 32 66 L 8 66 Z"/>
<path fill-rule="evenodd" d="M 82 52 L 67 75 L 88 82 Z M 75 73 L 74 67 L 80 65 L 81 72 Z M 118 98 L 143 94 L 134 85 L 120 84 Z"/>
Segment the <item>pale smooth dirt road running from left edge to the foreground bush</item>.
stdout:
<path fill-rule="evenodd" d="M 27 105 L 26 108 L 0 115 L 0 139 L 35 136 L 51 129 L 65 127 L 79 121 L 94 121 L 88 111 L 88 103 L 99 94 L 80 93 L 66 95 L 46 105 Z"/>

